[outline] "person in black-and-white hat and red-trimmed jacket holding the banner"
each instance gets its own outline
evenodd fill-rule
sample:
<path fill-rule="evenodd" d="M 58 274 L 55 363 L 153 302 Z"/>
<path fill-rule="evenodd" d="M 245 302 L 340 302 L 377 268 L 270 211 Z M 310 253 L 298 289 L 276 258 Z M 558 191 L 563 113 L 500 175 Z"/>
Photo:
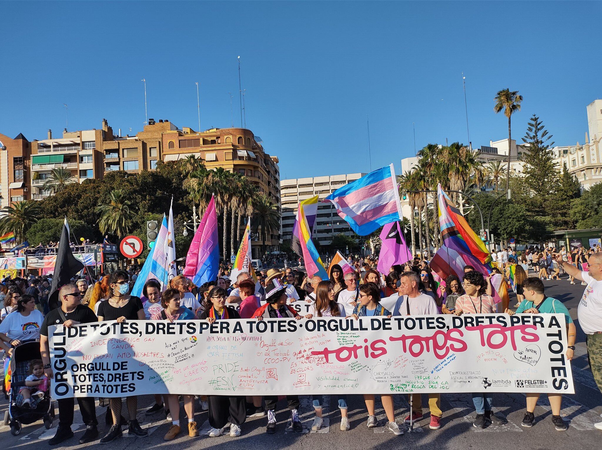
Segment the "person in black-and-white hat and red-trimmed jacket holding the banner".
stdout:
<path fill-rule="evenodd" d="M 255 311 L 254 319 L 294 318 L 299 320 L 301 318 L 296 310 L 287 305 L 287 288 L 282 286 L 278 279 L 281 274 L 275 270 L 268 271 L 267 282 L 265 283 L 265 301 L 267 303 Z M 276 403 L 278 403 L 278 395 L 265 396 L 265 410 L 267 410 L 266 433 L 276 433 Z M 287 395 L 287 407 L 291 410 L 292 430 L 295 433 L 302 433 L 303 427 L 299 420 L 299 396 Z"/>

